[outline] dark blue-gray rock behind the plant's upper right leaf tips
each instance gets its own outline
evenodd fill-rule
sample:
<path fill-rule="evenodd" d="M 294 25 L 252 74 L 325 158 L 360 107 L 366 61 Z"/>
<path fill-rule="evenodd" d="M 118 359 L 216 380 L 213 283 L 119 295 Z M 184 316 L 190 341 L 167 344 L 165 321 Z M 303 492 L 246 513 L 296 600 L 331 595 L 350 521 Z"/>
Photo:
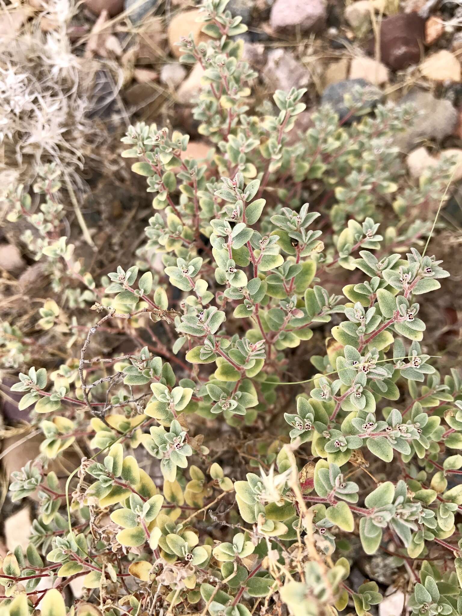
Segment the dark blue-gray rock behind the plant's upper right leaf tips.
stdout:
<path fill-rule="evenodd" d="M 362 95 L 356 94 L 358 87 L 362 88 Z M 351 95 L 357 100 L 360 113 L 351 114 L 351 109 L 345 104 L 345 95 Z M 365 113 L 371 111 L 383 99 L 383 92 L 378 87 L 365 81 L 365 79 L 345 79 L 327 86 L 322 94 L 321 104 L 329 104 L 338 113 L 339 119 L 345 123 L 359 120 Z"/>

